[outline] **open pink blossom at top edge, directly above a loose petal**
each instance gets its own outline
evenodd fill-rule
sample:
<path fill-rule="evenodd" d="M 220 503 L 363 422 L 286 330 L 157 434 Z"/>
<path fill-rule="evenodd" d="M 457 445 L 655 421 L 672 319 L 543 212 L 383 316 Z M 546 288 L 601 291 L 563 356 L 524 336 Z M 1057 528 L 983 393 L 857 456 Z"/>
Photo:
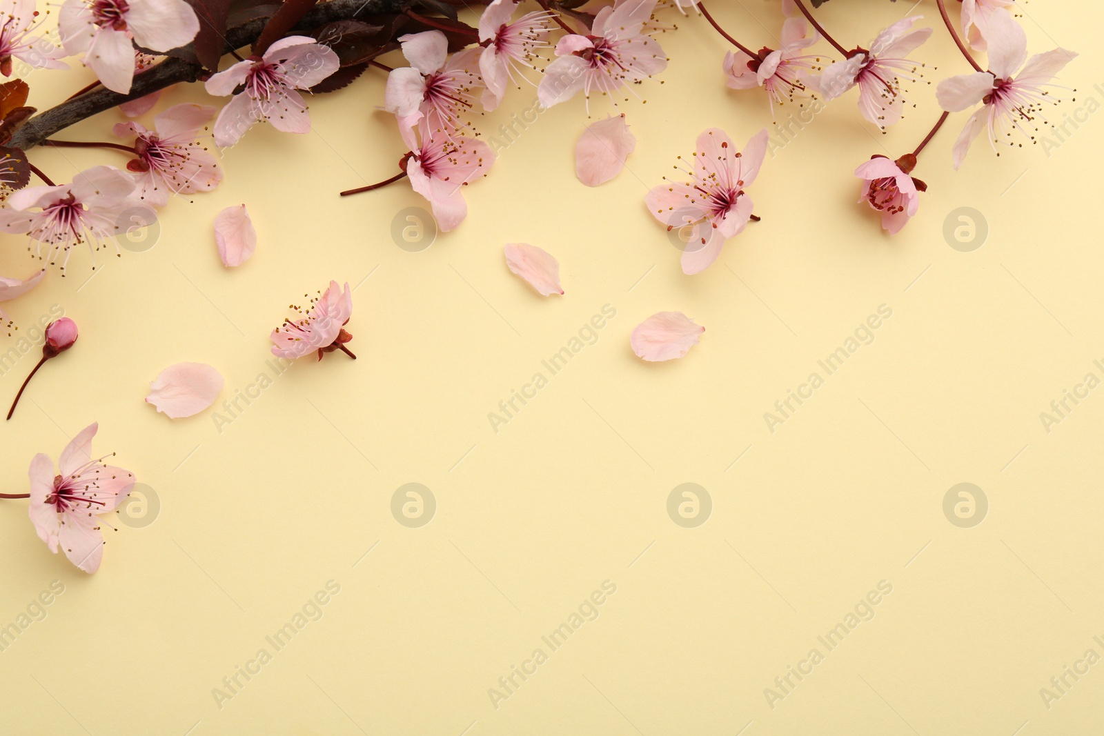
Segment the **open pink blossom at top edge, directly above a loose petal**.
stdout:
<path fill-rule="evenodd" d="M 667 55 L 644 33 L 656 0 L 624 0 L 598 11 L 588 35 L 572 33 L 555 46 L 558 58 L 548 65 L 537 95 L 544 107 L 566 102 L 582 92 L 612 94 L 625 85 L 641 84 L 667 68 Z"/>

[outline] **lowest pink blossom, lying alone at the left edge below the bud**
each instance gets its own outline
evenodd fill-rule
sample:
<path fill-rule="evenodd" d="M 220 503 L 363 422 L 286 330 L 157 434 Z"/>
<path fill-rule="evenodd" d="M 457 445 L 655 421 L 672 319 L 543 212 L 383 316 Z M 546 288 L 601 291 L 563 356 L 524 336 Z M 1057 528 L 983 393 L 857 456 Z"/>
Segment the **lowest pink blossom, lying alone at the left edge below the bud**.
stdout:
<path fill-rule="evenodd" d="M 134 488 L 128 470 L 93 459 L 92 438 L 99 425 L 82 429 L 62 451 L 59 471 L 49 455 L 31 460 L 29 514 L 39 538 L 50 551 L 59 547 L 85 573 L 95 573 L 104 556 L 99 514 L 115 511 Z M 114 455 L 114 454 L 113 454 Z M 109 456 L 105 456 L 109 457 Z"/>

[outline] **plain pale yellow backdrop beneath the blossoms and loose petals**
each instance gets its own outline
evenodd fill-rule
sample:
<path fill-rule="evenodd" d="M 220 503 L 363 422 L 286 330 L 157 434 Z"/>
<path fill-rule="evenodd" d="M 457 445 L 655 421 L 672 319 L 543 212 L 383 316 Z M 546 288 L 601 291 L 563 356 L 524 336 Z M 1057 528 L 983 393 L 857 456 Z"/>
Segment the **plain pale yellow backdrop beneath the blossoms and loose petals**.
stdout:
<path fill-rule="evenodd" d="M 750 45 L 774 43 L 777 3 L 712 4 Z M 859 44 L 909 6 L 835 0 L 817 13 Z M 3 490 L 24 492 L 35 452 L 56 456 L 98 420 L 96 447 L 118 454 L 149 505 L 128 508 L 87 576 L 38 541 L 25 501 L 3 502 L 0 623 L 29 607 L 41 618 L 0 651 L 3 732 L 1101 733 L 1104 663 L 1085 657 L 1104 655 L 1104 388 L 1068 402 L 1050 427 L 1040 414 L 1086 374 L 1104 378 L 1104 11 L 1023 8 L 1032 51 L 1082 52 L 1062 77 L 1076 102 L 1052 115 L 1076 125 L 1063 140 L 1040 132 L 1047 150 L 999 159 L 981 140 L 955 173 L 965 116 L 952 117 L 921 157 L 920 214 L 892 239 L 856 204 L 851 172 L 911 150 L 937 117 L 934 83 L 968 70 L 933 0 L 914 10 L 937 26 L 916 55 L 938 67 L 925 71 L 933 84 L 913 85 L 915 110 L 882 136 L 852 92 L 773 132 L 779 145 L 751 189 L 763 221 L 696 277 L 681 274 L 644 194 L 702 129 L 742 145 L 771 113 L 761 94 L 724 87 L 723 39 L 675 14 L 679 30 L 661 38 L 669 70 L 639 89 L 646 104 L 622 108 L 638 149 L 601 189 L 574 178 L 576 99 L 516 127 L 491 175 L 466 190 L 457 231 L 421 252 L 399 247 L 393 220 L 425 206 L 407 183 L 337 196 L 391 175 L 404 150 L 376 110 L 384 75 L 370 71 L 312 100 L 309 135 L 250 131 L 225 152 L 216 192 L 162 212 L 152 247 L 99 254 L 91 279 L 76 254 L 70 276 L 51 273 L 9 309 L 25 330 L 56 305 L 81 338 L 3 425 Z M 35 72 L 32 103 L 49 107 L 91 78 Z M 500 136 L 533 99 L 514 90 L 477 127 Z M 182 100 L 221 102 L 190 86 L 158 109 Z M 109 140 L 120 119 L 57 137 Z M 125 162 L 112 151 L 31 157 L 60 180 Z M 212 221 L 243 202 L 259 245 L 225 269 Z M 980 247 L 945 238 L 948 217 L 952 230 L 965 222 L 959 207 L 987 224 Z M 510 275 L 508 242 L 554 254 L 566 295 L 540 298 Z M 31 273 L 23 242 L 6 243 L 0 273 Z M 337 353 L 276 374 L 269 330 L 331 278 L 355 287 L 359 360 Z M 593 344 L 555 375 L 542 367 L 606 305 L 616 316 Z M 818 366 L 880 308 L 891 317 L 872 342 L 831 375 Z M 707 331 L 684 360 L 645 364 L 628 337 L 660 310 Z M 3 401 L 36 352 L 4 364 Z M 248 394 L 248 405 L 157 414 L 147 382 L 184 360 L 223 373 L 220 403 Z M 496 433 L 488 413 L 538 372 L 548 385 Z M 771 431 L 764 413 L 814 372 L 824 384 Z M 219 426 L 216 410 L 232 420 Z M 436 505 L 418 527 L 392 513 L 412 482 Z M 704 489 L 698 521 L 711 505 L 696 527 L 668 513 L 682 483 Z M 987 510 L 974 491 L 973 516 L 946 515 L 958 483 L 980 489 Z M 52 584 L 64 591 L 40 611 Z M 310 605 L 319 591 L 326 604 Z M 592 595 L 601 605 L 584 605 Z M 868 595 L 877 605 L 862 605 Z M 861 618 L 848 619 L 857 606 Z M 294 637 L 277 649 L 266 637 L 288 623 Z M 572 633 L 553 649 L 542 637 L 562 623 Z M 818 637 L 840 623 L 848 633 L 829 649 Z M 1063 675 L 1060 693 L 1051 679 Z M 1060 697 L 1044 702 L 1044 687 Z"/>

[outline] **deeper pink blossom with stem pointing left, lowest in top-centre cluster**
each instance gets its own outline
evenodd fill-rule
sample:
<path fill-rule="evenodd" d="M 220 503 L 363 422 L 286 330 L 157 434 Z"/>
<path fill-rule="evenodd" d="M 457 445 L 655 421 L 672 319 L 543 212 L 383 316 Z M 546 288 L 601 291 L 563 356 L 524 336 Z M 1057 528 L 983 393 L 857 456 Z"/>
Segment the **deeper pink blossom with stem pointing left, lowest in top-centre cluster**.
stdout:
<path fill-rule="evenodd" d="M 495 152 L 481 140 L 449 136 L 443 128 L 418 125 L 422 143 L 404 160 L 414 191 L 429 201 L 443 233 L 454 230 L 468 214 L 460 190 L 476 177 L 487 175 Z"/>

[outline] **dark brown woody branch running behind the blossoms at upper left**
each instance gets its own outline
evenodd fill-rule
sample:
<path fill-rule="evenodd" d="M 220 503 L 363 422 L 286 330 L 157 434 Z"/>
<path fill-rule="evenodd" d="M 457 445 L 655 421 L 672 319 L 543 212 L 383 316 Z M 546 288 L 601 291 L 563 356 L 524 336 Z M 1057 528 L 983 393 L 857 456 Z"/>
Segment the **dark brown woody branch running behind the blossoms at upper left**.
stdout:
<path fill-rule="evenodd" d="M 329 0 L 315 6 L 291 30 L 307 31 L 333 21 L 351 20 L 374 13 L 400 13 L 417 4 L 417 0 Z M 230 53 L 256 41 L 267 22 L 267 18 L 258 18 L 229 29 L 223 53 Z M 206 71 L 199 62 L 169 57 L 152 68 L 136 74 L 129 94 L 120 95 L 103 88 L 86 92 L 32 117 L 15 131 L 8 145 L 25 151 L 59 130 L 64 130 L 85 118 L 180 82 L 198 82 L 204 74 Z"/>

